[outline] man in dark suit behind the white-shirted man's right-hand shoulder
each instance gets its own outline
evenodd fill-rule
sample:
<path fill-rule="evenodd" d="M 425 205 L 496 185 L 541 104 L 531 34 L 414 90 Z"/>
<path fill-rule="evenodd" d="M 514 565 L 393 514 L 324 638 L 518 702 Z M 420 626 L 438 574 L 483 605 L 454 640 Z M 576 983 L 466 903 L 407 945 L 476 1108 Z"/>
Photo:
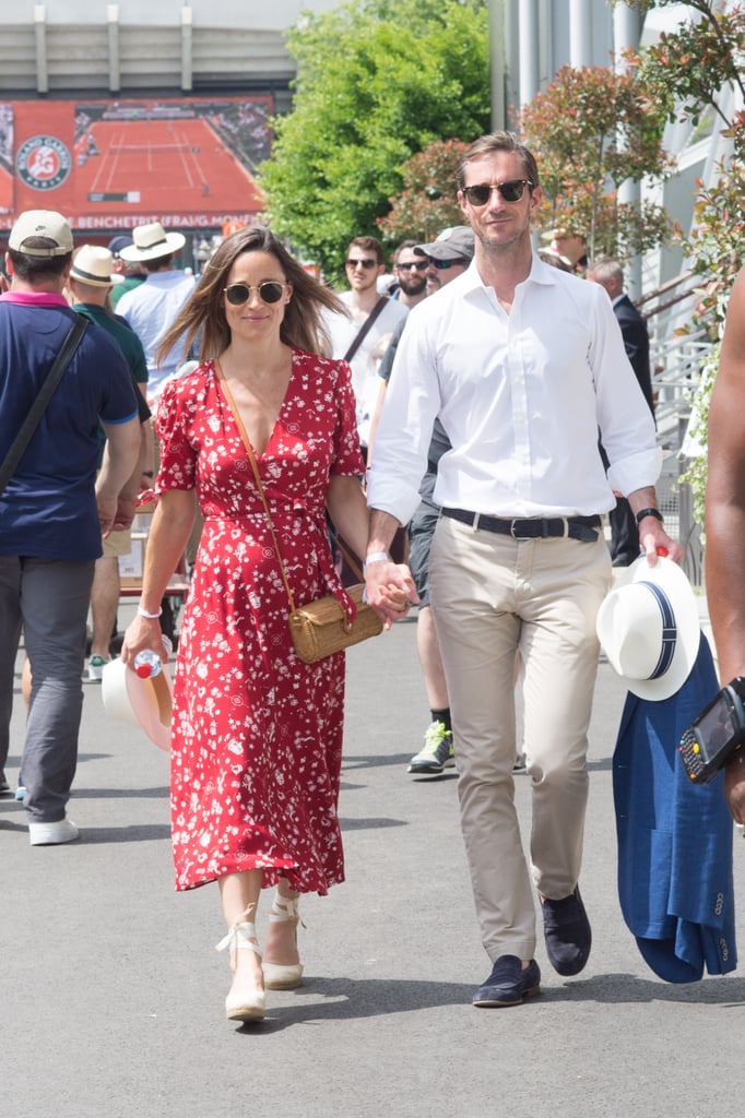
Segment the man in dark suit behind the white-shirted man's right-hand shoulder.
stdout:
<path fill-rule="evenodd" d="M 649 333 L 647 323 L 623 291 L 623 268 L 610 257 L 594 260 L 587 271 L 587 278 L 600 284 L 611 296 L 626 357 L 636 373 L 639 387 L 644 394 L 649 409 L 654 414 L 652 378 L 649 369 Z M 601 447 L 602 449 L 602 447 Z M 639 558 L 639 529 L 624 496 L 616 498 L 615 509 L 609 513 L 611 522 L 611 558 L 614 567 L 629 567 Z"/>

